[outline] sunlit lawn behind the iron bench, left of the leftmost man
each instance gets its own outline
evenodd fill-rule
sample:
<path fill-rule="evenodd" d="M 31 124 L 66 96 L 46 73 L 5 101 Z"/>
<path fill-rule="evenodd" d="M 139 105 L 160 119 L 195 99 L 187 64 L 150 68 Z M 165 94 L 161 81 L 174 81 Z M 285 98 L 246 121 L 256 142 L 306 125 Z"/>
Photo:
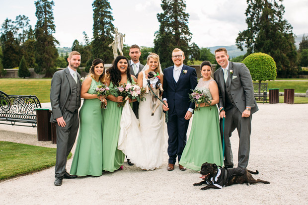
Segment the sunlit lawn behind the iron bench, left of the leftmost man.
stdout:
<path fill-rule="evenodd" d="M 8 95 L 36 95 L 41 103 L 50 102 L 51 78 L 1 78 L 0 90 Z"/>

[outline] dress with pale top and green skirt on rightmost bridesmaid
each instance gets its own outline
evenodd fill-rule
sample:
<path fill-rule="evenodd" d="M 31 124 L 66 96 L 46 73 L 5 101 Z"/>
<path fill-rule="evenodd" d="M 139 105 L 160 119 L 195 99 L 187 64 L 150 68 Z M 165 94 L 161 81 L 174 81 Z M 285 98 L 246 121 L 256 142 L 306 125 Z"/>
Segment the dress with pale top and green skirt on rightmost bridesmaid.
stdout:
<path fill-rule="evenodd" d="M 201 78 L 195 89 L 210 96 L 212 100 L 209 90 L 210 81 L 215 80 L 203 81 Z M 200 171 L 201 165 L 205 162 L 223 166 L 223 148 L 217 105 L 201 107 L 199 111 L 194 112 L 190 135 L 179 164 Z"/>

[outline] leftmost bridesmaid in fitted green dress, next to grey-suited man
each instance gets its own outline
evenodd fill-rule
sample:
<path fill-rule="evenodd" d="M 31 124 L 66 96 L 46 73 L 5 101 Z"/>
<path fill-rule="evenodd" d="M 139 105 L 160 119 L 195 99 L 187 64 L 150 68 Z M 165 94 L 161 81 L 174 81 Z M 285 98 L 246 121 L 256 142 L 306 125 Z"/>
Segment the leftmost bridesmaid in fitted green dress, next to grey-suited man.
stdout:
<path fill-rule="evenodd" d="M 102 175 L 102 111 L 101 101 L 106 100 L 97 96 L 95 88 L 104 83 L 104 62 L 95 59 L 89 75 L 81 85 L 81 97 L 84 98 L 79 112 L 80 128 L 71 166 L 71 174 L 77 176 Z"/>

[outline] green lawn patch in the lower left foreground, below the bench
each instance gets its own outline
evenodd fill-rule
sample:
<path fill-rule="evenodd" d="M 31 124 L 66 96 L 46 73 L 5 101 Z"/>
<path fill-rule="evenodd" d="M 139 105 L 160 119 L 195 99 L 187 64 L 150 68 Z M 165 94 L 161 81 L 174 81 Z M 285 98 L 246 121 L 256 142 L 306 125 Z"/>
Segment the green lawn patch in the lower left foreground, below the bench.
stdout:
<path fill-rule="evenodd" d="M 70 153 L 68 158 L 71 158 Z M 56 148 L 0 141 L 0 181 L 56 164 Z"/>

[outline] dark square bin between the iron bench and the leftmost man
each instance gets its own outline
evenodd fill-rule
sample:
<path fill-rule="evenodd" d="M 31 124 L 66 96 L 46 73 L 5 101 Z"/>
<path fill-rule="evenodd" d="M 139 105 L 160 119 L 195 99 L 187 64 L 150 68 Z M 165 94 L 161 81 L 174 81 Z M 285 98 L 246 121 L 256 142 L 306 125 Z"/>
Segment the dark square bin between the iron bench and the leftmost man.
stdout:
<path fill-rule="evenodd" d="M 50 108 L 36 108 L 37 140 L 51 140 Z"/>

